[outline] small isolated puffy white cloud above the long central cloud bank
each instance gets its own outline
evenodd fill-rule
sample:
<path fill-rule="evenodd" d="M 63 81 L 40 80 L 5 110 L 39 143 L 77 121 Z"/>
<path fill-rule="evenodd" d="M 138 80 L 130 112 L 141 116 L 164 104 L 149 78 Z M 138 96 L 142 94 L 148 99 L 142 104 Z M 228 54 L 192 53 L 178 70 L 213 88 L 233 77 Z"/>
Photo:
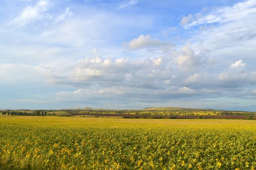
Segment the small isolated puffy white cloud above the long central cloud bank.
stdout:
<path fill-rule="evenodd" d="M 129 50 L 137 50 L 143 48 L 154 48 L 168 45 L 168 43 L 152 38 L 150 35 L 140 35 L 138 38 L 134 38 L 128 43 Z"/>

